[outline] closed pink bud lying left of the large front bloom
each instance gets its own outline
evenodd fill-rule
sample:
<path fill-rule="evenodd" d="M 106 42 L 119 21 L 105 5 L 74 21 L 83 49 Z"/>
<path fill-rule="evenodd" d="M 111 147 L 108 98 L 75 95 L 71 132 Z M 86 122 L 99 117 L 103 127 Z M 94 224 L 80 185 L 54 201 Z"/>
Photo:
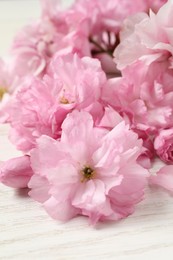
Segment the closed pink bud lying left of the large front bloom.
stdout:
<path fill-rule="evenodd" d="M 13 188 L 25 188 L 33 175 L 30 157 L 21 156 L 0 164 L 0 182 Z"/>

